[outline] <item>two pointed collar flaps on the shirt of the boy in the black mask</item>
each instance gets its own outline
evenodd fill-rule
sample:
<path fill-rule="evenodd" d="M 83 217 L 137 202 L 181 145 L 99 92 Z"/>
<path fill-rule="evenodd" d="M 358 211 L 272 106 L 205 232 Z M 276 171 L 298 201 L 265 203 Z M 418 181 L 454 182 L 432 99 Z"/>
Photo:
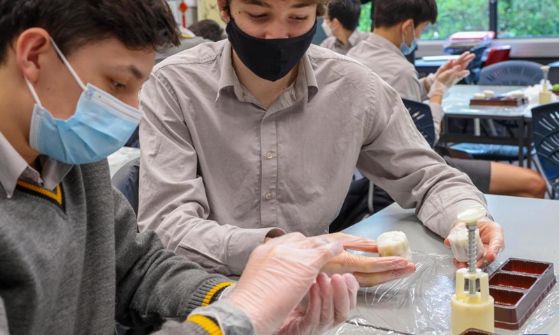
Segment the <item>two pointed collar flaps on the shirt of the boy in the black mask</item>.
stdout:
<path fill-rule="evenodd" d="M 300 94 L 305 94 L 305 89 L 308 93 L 308 101 L 311 101 L 314 96 L 317 95 L 319 91 L 317 78 L 314 76 L 314 70 L 312 69 L 311 61 L 307 55 L 308 52 L 305 52 L 303 58 L 299 63 L 299 74 L 295 82 L 295 91 L 296 95 L 300 96 Z M 245 96 L 245 92 L 243 91 L 242 84 L 237 77 L 237 73 L 235 73 L 235 69 L 233 68 L 233 47 L 231 43 L 226 41 L 224 43 L 224 50 L 222 52 L 222 59 L 221 59 L 221 74 L 219 75 L 219 87 L 217 89 L 217 96 L 215 101 L 219 100 L 219 96 L 221 96 L 222 91 L 228 87 L 233 87 L 233 92 L 235 96 L 238 98 L 239 101 L 242 101 L 243 96 Z M 246 89 L 245 89 L 246 90 Z"/>

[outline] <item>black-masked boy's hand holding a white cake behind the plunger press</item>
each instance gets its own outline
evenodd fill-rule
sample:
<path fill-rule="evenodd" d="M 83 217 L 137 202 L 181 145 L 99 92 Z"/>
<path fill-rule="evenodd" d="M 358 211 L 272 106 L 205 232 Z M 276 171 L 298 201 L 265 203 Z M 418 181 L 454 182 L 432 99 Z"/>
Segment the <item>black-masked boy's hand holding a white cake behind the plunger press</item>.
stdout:
<path fill-rule="evenodd" d="M 484 257 L 477 260 L 477 267 L 479 269 L 484 269 L 494 262 L 499 257 L 501 251 L 504 250 L 504 230 L 501 225 L 489 220 L 488 218 L 482 218 L 479 220 L 477 228 L 479 229 L 479 237 L 481 237 L 481 242 L 483 242 L 485 248 Z M 454 230 L 467 230 L 466 224 L 463 222 L 457 222 L 451 232 Z M 450 248 L 449 239 L 444 240 L 444 245 Z M 460 263 L 456 259 L 454 260 L 454 265 L 458 268 L 467 267 L 466 263 Z"/>

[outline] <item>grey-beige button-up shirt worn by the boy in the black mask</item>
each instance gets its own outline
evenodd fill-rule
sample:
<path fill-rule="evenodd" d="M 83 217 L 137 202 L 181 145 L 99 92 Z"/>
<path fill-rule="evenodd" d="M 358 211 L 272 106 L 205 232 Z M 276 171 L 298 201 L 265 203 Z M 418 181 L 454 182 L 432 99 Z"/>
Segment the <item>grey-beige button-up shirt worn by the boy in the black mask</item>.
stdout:
<path fill-rule="evenodd" d="M 396 91 L 357 61 L 311 46 L 266 110 L 240 84 L 228 40 L 154 68 L 140 96 L 140 230 L 211 271 L 240 274 L 270 229 L 328 232 L 354 168 L 446 236 L 485 205 L 428 147 Z"/>

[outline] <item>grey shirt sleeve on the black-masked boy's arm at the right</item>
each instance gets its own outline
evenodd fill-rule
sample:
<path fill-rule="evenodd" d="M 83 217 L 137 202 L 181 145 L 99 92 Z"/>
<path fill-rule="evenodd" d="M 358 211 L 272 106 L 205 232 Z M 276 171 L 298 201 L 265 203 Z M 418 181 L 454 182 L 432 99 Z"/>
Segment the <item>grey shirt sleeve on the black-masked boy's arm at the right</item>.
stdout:
<path fill-rule="evenodd" d="M 368 129 L 357 168 L 430 230 L 447 237 L 459 211 L 481 204 L 483 193 L 444 163 L 417 131 L 397 92 L 373 73 Z"/>

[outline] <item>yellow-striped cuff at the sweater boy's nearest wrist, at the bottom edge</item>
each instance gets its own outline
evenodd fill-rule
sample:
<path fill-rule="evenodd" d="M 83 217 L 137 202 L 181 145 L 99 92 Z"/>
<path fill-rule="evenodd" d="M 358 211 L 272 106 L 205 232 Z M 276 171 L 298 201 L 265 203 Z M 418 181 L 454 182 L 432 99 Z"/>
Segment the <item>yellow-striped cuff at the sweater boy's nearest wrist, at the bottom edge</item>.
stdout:
<path fill-rule="evenodd" d="M 231 302 L 217 301 L 207 307 L 197 308 L 186 322 L 194 322 L 204 329 L 212 330 L 208 334 L 254 335 L 254 326 L 249 317 Z M 217 332 L 217 330 L 219 332 Z"/>

